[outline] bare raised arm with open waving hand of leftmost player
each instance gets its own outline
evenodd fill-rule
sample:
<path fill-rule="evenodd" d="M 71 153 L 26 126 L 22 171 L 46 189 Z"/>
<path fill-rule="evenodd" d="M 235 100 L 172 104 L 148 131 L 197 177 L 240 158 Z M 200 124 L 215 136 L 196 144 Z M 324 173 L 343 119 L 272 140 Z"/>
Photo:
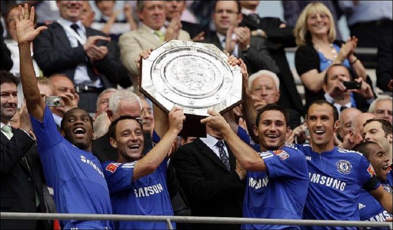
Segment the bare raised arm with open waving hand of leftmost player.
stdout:
<path fill-rule="evenodd" d="M 35 76 L 33 62 L 31 58 L 30 45 L 31 42 L 38 36 L 38 34 L 47 29 L 46 26 L 40 26 L 34 29 L 34 7 L 31 7 L 30 14 L 28 13 L 28 4 L 25 4 L 25 11 L 22 11 L 22 6 L 19 6 L 19 15 L 15 19 L 16 37 L 19 46 L 20 71 L 23 86 L 23 94 L 26 98 L 26 105 L 28 113 L 39 121 L 43 120 L 45 102 L 40 95 L 37 85 L 37 78 Z"/>

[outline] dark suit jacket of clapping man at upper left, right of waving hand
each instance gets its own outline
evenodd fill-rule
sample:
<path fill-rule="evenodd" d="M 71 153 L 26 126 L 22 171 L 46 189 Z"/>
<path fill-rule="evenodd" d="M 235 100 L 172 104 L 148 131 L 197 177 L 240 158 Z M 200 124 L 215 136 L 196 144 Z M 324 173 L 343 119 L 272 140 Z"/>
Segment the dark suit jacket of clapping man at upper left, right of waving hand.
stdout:
<path fill-rule="evenodd" d="M 86 37 L 101 35 L 105 33 L 86 28 Z M 114 87 L 121 80 L 121 68 L 119 61 L 115 59 L 111 48 L 107 42 L 98 41 L 97 46 L 107 46 L 108 54 L 101 61 L 90 63 L 86 61 L 86 53 L 83 46 L 71 48 L 70 41 L 64 31 L 64 28 L 53 23 L 48 26 L 47 30 L 41 31 L 38 37 L 33 41 L 34 59 L 43 71 L 45 76 L 53 74 L 65 74 L 74 81 L 75 68 L 79 64 L 86 64 L 89 76 L 96 75 L 95 70 L 99 72 L 99 76 L 104 87 Z"/>

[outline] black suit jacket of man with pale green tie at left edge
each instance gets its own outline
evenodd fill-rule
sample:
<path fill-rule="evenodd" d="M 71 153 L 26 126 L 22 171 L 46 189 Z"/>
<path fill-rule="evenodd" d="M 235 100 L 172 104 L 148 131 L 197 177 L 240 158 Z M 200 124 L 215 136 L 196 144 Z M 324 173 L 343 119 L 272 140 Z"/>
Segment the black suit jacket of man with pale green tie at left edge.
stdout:
<path fill-rule="evenodd" d="M 12 129 L 11 140 L 1 132 L 1 211 L 37 212 L 35 190 L 40 199 L 39 210 L 47 212 L 44 195 L 48 188 L 42 172 L 34 140 L 21 129 Z M 26 156 L 28 165 L 23 160 Z M 31 173 L 29 171 L 31 170 Z M 44 189 L 46 189 L 44 193 Z M 53 202 L 52 202 L 53 205 Z M 50 207 L 48 209 L 54 209 Z M 43 222 L 50 229 L 48 221 Z M 37 220 L 1 219 L 1 229 L 35 229 Z"/>

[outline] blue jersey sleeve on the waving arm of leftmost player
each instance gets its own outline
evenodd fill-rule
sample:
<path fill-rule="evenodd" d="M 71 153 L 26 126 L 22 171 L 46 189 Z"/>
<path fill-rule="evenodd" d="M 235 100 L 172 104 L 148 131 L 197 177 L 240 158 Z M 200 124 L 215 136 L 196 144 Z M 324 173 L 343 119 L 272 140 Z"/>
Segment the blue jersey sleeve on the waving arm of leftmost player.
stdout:
<path fill-rule="evenodd" d="M 37 137 L 38 152 L 50 149 L 57 143 L 61 142 L 63 137 L 57 130 L 55 120 L 48 106 L 44 110 L 44 119 L 42 122 L 30 115 L 31 126 Z"/>

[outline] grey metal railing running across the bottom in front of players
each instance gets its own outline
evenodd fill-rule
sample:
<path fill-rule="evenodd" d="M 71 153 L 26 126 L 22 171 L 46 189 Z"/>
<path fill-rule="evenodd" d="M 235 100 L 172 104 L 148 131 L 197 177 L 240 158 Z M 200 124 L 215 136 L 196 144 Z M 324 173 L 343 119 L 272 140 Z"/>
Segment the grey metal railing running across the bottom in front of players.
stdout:
<path fill-rule="evenodd" d="M 337 221 L 337 220 L 291 220 L 291 219 L 259 219 L 235 217 L 197 217 L 197 216 L 139 216 L 116 214 L 69 214 L 69 213 L 27 213 L 0 212 L 0 219 L 28 219 L 28 220 L 112 220 L 112 221 L 153 221 L 166 222 L 168 229 L 172 229 L 171 222 L 198 224 L 264 224 L 282 226 L 340 226 L 362 228 L 389 228 L 392 223 L 368 221 Z"/>

